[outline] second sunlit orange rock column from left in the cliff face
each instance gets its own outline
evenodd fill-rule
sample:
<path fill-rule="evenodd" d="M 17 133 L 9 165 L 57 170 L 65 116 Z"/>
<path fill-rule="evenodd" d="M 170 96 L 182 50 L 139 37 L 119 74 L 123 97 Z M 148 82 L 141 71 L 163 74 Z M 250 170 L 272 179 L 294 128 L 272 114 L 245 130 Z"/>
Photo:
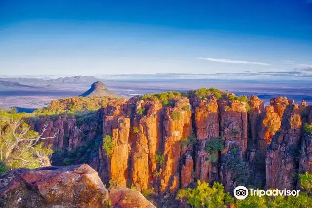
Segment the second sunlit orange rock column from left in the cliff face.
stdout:
<path fill-rule="evenodd" d="M 144 108 L 146 115 L 133 119 L 131 183 L 137 189 L 158 189 L 156 155 L 160 153 L 162 145 L 162 104 L 159 101 L 140 101 L 137 106 L 137 109 Z"/>

